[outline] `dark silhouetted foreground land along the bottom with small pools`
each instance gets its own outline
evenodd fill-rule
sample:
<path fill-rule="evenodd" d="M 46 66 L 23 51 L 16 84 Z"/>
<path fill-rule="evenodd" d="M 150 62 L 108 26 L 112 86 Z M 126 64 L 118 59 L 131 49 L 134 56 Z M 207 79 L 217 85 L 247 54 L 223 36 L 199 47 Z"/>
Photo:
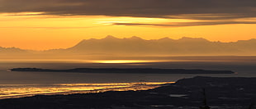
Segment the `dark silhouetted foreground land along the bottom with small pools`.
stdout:
<path fill-rule="evenodd" d="M 198 76 L 145 91 L 3 99 L 0 109 L 198 109 L 203 102 L 211 109 L 253 109 L 255 98 L 256 78 Z"/>

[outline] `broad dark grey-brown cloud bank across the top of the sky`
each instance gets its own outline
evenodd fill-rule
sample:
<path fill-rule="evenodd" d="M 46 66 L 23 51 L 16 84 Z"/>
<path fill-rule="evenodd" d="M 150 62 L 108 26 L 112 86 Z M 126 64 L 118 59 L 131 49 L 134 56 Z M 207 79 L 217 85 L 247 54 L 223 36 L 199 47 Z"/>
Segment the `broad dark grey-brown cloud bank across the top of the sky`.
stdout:
<path fill-rule="evenodd" d="M 255 0 L 0 0 L 0 12 L 59 16 L 235 19 L 256 16 Z M 202 15 L 202 16 L 197 16 Z M 211 17 L 214 16 L 214 17 Z"/>

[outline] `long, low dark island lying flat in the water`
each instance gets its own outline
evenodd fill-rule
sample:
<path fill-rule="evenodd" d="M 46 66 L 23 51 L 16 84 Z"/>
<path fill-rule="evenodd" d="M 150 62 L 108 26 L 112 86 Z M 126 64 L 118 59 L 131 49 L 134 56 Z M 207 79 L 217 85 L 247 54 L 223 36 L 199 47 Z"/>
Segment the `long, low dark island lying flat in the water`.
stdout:
<path fill-rule="evenodd" d="M 69 70 L 52 70 L 40 68 L 13 68 L 11 71 L 38 72 L 82 72 L 82 73 L 142 73 L 142 74 L 234 74 L 231 70 L 185 70 L 154 68 L 76 68 Z"/>

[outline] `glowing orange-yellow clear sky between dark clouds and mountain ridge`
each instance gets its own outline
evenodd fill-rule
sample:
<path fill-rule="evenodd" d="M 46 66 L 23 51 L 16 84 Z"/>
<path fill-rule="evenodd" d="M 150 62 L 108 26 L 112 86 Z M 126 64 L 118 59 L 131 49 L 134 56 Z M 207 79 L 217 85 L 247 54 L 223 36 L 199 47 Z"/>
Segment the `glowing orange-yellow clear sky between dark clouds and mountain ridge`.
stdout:
<path fill-rule="evenodd" d="M 27 16 L 27 14 L 30 14 L 30 16 Z M 163 24 L 197 22 L 200 20 L 36 14 L 38 13 L 1 14 L 0 47 L 35 50 L 69 48 L 82 39 L 102 39 L 107 35 L 117 38 L 139 36 L 142 39 L 192 37 L 221 42 L 256 38 L 256 25 L 254 24 L 162 26 Z M 115 25 L 116 23 L 151 25 Z"/>

